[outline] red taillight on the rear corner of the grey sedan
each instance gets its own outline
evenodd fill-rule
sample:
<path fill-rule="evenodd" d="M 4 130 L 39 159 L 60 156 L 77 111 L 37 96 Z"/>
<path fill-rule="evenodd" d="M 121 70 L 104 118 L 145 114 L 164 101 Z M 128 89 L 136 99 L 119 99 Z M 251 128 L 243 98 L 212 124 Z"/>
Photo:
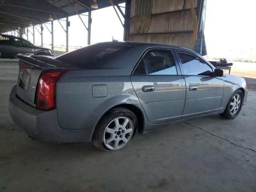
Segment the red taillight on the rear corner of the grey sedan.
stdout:
<path fill-rule="evenodd" d="M 68 70 L 42 72 L 36 92 L 36 108 L 39 110 L 56 109 L 57 82 Z"/>

